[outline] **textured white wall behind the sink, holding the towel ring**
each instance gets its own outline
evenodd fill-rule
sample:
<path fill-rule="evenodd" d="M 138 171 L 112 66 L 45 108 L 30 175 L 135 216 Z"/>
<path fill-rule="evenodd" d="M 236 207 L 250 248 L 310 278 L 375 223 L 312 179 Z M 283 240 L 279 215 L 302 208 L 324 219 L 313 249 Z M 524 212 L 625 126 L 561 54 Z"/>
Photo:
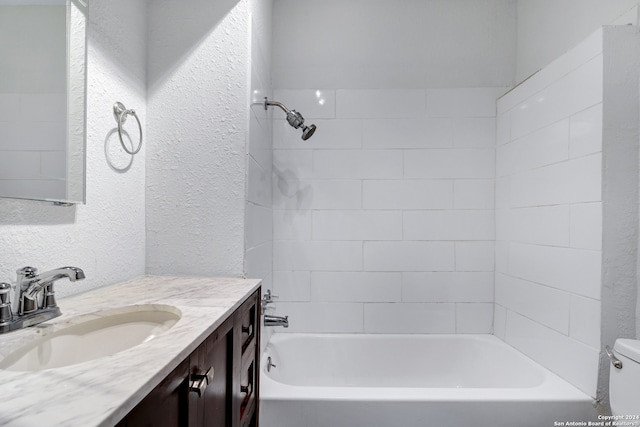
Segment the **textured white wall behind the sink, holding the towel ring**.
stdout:
<path fill-rule="evenodd" d="M 119 148 L 112 105 L 145 111 L 145 2 L 91 2 L 88 26 L 87 204 L 54 207 L 0 199 L 0 280 L 25 265 L 41 271 L 73 265 L 87 279 L 57 286 L 70 294 L 144 273 L 145 148 L 129 164 Z M 137 133 L 133 131 L 132 134 Z"/>

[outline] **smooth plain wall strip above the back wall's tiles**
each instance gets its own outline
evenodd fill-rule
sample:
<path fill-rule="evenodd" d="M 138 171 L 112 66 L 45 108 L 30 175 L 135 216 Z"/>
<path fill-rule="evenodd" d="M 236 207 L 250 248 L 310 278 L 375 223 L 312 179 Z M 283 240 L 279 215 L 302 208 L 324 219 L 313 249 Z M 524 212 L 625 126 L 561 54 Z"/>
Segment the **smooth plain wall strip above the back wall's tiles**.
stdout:
<path fill-rule="evenodd" d="M 513 84 L 515 0 L 275 0 L 276 89 Z"/>

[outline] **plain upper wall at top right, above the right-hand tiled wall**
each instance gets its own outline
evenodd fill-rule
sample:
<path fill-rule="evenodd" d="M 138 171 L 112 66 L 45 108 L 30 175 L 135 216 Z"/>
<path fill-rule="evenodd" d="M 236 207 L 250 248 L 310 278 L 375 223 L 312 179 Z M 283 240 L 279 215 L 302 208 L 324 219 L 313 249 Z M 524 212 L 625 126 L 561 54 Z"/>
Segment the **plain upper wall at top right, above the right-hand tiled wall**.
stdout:
<path fill-rule="evenodd" d="M 518 0 L 517 3 L 517 82 L 578 45 L 602 25 L 638 23 L 638 0 Z"/>

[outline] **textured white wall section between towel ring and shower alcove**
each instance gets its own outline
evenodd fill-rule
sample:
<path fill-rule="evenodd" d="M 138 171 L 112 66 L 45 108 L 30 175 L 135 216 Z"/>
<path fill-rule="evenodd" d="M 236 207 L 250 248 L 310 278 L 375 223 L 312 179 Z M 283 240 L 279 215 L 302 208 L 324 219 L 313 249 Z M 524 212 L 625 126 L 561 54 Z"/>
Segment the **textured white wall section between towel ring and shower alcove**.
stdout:
<path fill-rule="evenodd" d="M 246 0 L 149 2 L 147 271 L 244 271 Z"/>

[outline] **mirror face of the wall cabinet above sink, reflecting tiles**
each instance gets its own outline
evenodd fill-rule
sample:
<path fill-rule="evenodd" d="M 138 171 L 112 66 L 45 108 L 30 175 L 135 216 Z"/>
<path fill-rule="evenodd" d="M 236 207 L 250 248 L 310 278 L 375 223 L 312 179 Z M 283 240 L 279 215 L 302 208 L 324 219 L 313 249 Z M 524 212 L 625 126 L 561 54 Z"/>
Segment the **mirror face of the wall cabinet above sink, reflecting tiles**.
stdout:
<path fill-rule="evenodd" d="M 14 42 L 4 43 L 0 60 L 0 192 L 10 197 L 37 199 L 46 194 L 63 199 L 67 132 L 65 5 L 1 8 L 0 40 Z"/>

